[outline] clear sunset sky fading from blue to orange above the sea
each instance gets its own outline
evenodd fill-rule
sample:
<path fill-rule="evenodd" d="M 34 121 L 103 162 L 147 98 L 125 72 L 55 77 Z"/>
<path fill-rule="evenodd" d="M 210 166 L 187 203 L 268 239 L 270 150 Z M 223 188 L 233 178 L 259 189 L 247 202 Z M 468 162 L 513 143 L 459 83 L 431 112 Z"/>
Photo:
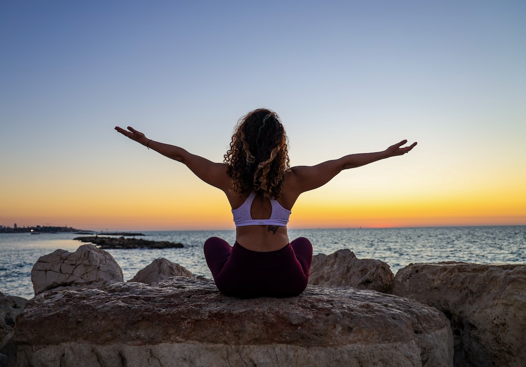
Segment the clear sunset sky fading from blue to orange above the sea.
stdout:
<path fill-rule="evenodd" d="M 226 196 L 115 126 L 220 162 L 281 117 L 292 166 L 381 151 L 289 228 L 526 225 L 526 2 L 0 2 L 0 225 L 234 229 Z"/>

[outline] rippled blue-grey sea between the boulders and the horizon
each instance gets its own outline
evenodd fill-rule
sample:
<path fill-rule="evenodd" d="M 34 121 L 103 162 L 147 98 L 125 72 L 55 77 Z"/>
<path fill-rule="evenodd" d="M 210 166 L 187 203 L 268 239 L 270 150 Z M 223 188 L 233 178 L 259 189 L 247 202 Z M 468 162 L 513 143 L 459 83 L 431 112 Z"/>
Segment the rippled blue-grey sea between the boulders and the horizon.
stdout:
<path fill-rule="evenodd" d="M 391 271 L 410 263 L 463 261 L 479 264 L 526 263 L 526 226 L 289 229 L 289 238 L 307 237 L 313 254 L 350 249 L 359 259 L 378 259 Z M 127 281 L 158 258 L 185 267 L 196 276 L 211 278 L 203 255 L 209 237 L 235 241 L 234 230 L 146 231 L 140 238 L 183 243 L 175 249 L 106 250 L 115 258 Z M 105 236 L 104 233 L 98 233 Z M 56 249 L 74 252 L 84 244 L 77 233 L 0 233 L 0 292 L 34 297 L 31 269 L 39 257 Z"/>

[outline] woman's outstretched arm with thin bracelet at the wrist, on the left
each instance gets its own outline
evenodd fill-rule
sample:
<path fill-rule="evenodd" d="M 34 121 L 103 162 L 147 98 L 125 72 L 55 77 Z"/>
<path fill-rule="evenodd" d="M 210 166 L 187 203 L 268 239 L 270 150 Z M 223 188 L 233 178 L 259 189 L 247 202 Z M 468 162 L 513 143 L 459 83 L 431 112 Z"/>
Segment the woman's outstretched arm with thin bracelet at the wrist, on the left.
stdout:
<path fill-rule="evenodd" d="M 214 163 L 206 158 L 191 154 L 187 150 L 175 145 L 164 144 L 159 141 L 148 139 L 142 132 L 128 126 L 128 130 L 115 127 L 115 130 L 127 136 L 131 140 L 137 141 L 149 149 L 155 150 L 165 157 L 177 160 L 186 165 L 194 174 L 209 185 L 217 187 L 223 191 L 231 186 L 230 177 L 227 174 L 227 166 L 222 163 Z"/>

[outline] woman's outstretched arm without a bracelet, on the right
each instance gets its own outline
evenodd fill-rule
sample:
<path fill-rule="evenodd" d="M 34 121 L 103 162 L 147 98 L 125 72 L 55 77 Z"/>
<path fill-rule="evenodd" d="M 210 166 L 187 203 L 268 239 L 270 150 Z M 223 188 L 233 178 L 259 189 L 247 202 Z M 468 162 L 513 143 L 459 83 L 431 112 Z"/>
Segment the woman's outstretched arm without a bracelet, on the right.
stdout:
<path fill-rule="evenodd" d="M 402 145 L 406 143 L 407 140 L 402 140 L 383 151 L 350 154 L 340 159 L 328 160 L 316 166 L 292 167 L 289 187 L 299 196 L 301 192 L 313 190 L 325 185 L 344 169 L 365 166 L 380 159 L 401 156 L 417 145 L 416 142 L 413 142 L 410 146 L 402 147 Z M 287 179 L 289 180 L 289 177 L 287 177 Z"/>

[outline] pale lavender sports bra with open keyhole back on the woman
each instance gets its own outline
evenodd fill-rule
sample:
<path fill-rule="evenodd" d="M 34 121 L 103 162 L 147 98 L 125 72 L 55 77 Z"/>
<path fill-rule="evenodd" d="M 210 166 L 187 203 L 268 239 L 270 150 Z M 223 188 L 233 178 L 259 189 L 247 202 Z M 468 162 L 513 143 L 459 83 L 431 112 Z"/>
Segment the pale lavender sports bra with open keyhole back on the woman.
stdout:
<path fill-rule="evenodd" d="M 289 222 L 291 211 L 285 209 L 277 202 L 274 198 L 270 199 L 270 205 L 272 206 L 272 213 L 269 219 L 252 219 L 250 215 L 250 208 L 252 201 L 256 197 L 256 193 L 252 192 L 247 200 L 239 208 L 232 209 L 232 215 L 234 216 L 234 223 L 236 227 L 244 226 L 283 226 L 286 227 Z"/>

